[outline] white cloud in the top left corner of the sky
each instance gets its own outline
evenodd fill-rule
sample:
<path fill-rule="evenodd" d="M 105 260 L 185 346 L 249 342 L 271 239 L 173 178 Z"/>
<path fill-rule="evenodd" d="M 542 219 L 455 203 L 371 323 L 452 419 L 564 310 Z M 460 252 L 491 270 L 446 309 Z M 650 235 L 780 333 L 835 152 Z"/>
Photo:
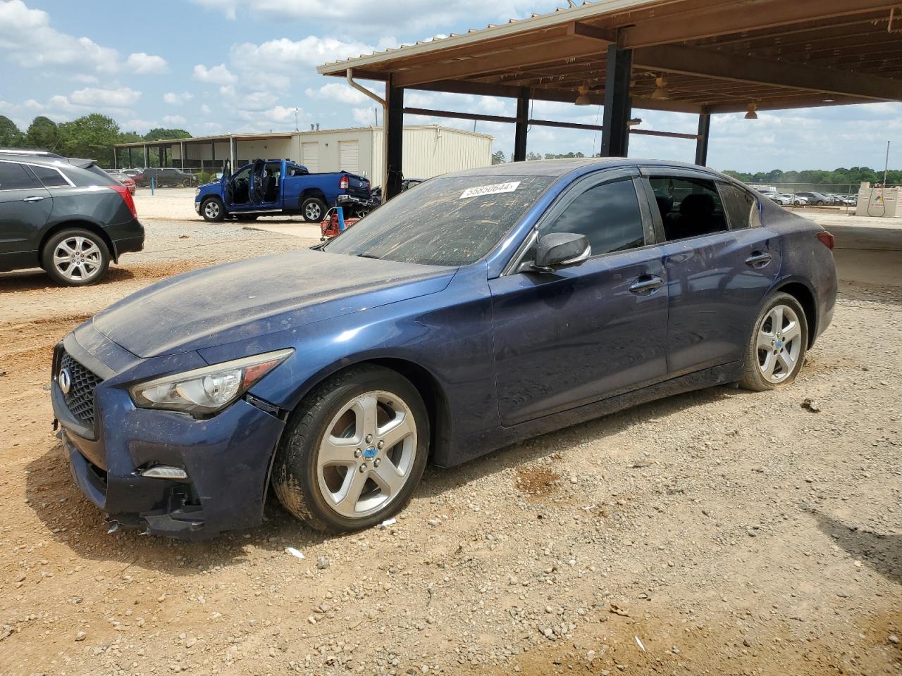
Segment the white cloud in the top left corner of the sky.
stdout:
<path fill-rule="evenodd" d="M 114 73 L 123 66 L 117 50 L 87 37 L 77 38 L 56 30 L 51 27 L 50 14 L 30 9 L 22 0 L 0 0 L 0 50 L 5 50 L 9 59 L 23 68 L 87 67 Z M 165 64 L 160 57 L 132 56 L 145 57 L 143 68 L 147 68 L 148 63 L 157 64 L 157 67 L 159 61 Z"/>

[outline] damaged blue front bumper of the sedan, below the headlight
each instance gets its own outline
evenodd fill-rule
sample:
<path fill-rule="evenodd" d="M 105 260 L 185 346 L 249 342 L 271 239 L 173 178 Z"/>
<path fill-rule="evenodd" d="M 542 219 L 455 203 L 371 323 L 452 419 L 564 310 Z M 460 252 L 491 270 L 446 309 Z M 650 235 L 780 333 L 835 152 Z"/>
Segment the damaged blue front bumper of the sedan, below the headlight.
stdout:
<path fill-rule="evenodd" d="M 103 370 L 76 339 L 79 333 L 82 342 L 100 348 L 95 353 L 106 361 L 135 361 L 86 324 L 57 346 L 54 376 L 63 351 L 88 368 Z M 260 525 L 281 419 L 244 400 L 207 420 L 137 408 L 124 387 L 131 378 L 107 378 L 110 371 L 98 373 L 105 380 L 94 391 L 93 428 L 69 413 L 56 378 L 51 381 L 60 438 L 85 496 L 115 521 L 151 534 L 203 539 Z M 156 464 L 179 467 L 188 479 L 140 475 L 139 470 Z"/>

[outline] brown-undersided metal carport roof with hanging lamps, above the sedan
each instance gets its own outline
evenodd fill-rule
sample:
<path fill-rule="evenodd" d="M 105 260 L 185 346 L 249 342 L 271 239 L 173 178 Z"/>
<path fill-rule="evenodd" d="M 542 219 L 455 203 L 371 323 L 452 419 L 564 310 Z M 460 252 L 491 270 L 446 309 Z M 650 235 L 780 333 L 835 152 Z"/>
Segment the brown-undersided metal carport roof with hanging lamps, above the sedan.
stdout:
<path fill-rule="evenodd" d="M 637 108 L 687 113 L 902 101 L 899 0 L 601 0 L 320 66 L 394 87 L 603 103 L 632 50 Z M 667 100 L 652 98 L 666 78 Z"/>

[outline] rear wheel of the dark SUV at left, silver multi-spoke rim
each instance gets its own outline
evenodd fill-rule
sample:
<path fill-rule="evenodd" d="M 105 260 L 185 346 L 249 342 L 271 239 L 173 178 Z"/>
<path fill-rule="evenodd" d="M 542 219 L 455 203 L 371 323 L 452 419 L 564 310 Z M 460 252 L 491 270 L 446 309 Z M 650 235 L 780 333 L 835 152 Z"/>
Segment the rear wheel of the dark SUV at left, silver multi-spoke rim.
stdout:
<path fill-rule="evenodd" d="M 106 242 L 89 230 L 63 230 L 44 244 L 44 269 L 51 278 L 69 287 L 94 284 L 106 274 L 110 252 Z"/>

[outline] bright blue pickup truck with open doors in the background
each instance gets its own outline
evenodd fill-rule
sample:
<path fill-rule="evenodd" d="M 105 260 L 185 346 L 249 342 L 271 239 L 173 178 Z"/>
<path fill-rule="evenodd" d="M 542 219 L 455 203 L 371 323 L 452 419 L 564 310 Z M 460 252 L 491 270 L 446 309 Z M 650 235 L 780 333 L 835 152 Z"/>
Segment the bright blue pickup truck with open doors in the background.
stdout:
<path fill-rule="evenodd" d="M 226 160 L 223 178 L 198 187 L 194 196 L 194 210 L 213 222 L 285 214 L 318 223 L 332 206 L 364 215 L 375 206 L 370 182 L 347 171 L 311 174 L 290 160 L 253 160 L 233 174 Z"/>

